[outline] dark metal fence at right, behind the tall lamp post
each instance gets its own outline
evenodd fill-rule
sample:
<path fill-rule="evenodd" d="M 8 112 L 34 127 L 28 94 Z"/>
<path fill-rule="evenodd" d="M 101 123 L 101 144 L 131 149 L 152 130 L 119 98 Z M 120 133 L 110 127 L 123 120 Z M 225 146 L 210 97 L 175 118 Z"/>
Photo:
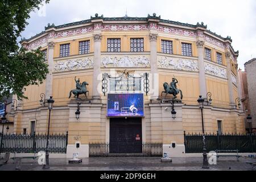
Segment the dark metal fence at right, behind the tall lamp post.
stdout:
<path fill-rule="evenodd" d="M 185 134 L 184 144 L 186 153 L 203 152 L 203 135 Z M 236 152 L 256 152 L 255 134 L 205 134 L 207 152 L 222 150 Z"/>

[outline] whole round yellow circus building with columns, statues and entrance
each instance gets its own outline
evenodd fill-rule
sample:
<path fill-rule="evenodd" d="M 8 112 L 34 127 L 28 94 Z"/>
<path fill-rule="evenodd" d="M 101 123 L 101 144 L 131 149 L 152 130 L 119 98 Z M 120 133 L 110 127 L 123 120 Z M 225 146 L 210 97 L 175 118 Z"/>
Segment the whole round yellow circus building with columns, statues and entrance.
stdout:
<path fill-rule="evenodd" d="M 40 47 L 49 73 L 42 85 L 27 86 L 28 100 L 9 114 L 14 133 L 46 133 L 52 96 L 49 132 L 68 131 L 67 157 L 88 157 L 99 142 L 114 154 L 142 152 L 151 142 L 183 156 L 184 131 L 202 132 L 199 96 L 206 133 L 245 133 L 238 51 L 203 22 L 96 14 L 48 24 L 22 46 Z"/>

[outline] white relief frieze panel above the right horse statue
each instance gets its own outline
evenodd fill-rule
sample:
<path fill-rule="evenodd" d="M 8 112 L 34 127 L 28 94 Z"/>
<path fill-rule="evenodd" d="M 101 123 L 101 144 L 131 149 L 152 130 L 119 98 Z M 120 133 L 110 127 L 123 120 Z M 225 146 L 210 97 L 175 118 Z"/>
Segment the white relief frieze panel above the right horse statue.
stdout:
<path fill-rule="evenodd" d="M 198 63 L 196 60 L 181 59 L 176 57 L 159 57 L 158 68 L 175 69 L 182 71 L 198 72 Z"/>

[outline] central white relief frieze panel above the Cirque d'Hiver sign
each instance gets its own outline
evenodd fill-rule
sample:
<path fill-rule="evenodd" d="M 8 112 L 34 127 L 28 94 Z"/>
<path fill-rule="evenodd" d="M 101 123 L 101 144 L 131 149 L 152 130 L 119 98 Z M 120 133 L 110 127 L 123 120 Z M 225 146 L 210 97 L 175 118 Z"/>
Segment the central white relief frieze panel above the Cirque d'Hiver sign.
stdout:
<path fill-rule="evenodd" d="M 150 60 L 145 56 L 106 56 L 101 59 L 101 67 L 150 67 Z"/>

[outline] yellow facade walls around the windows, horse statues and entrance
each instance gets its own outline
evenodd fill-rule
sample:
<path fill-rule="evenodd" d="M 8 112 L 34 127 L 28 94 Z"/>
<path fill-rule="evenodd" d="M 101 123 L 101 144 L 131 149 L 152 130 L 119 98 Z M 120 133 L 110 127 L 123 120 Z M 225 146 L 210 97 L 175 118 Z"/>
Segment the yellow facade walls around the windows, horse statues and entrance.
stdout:
<path fill-rule="evenodd" d="M 218 130 L 217 121 L 222 122 L 222 132 L 230 133 L 245 133 L 244 127 L 244 114 L 241 110 L 234 108 L 234 103 L 237 97 L 239 97 L 236 81 L 228 79 L 229 73 L 232 73 L 233 80 L 236 80 L 236 52 L 233 49 L 229 49 L 228 52 L 232 56 L 228 56 L 227 45 L 231 44 L 230 40 L 216 37 L 214 34 L 210 34 L 206 31 L 206 28 L 202 26 L 186 27 L 184 24 L 171 24 L 158 22 L 159 27 L 154 28 L 152 24 L 155 20 L 147 20 L 147 26 L 145 21 L 139 20 L 113 20 L 112 22 L 104 22 L 105 20 L 94 20 L 86 25 L 81 24 L 80 27 L 65 27 L 61 30 L 51 30 L 51 27 L 47 29 L 48 32 L 56 31 L 56 34 L 65 33 L 65 31 L 77 32 L 80 29 L 76 28 L 88 28 L 97 27 L 100 24 L 101 29 L 84 32 L 81 34 L 72 34 L 65 36 L 57 36 L 49 38 L 48 42 L 53 42 L 53 52 L 47 48 L 47 43 L 42 44 L 42 49 L 47 48 L 47 61 L 48 64 L 52 63 L 52 88 L 51 95 L 55 100 L 54 108 L 51 116 L 51 133 L 65 133 L 69 132 L 68 143 L 74 143 L 74 137 L 79 135 L 81 137 L 80 142 L 82 144 L 88 144 L 90 142 L 109 142 L 109 123 L 110 118 L 106 117 L 106 102 L 107 94 L 101 92 L 101 80 L 102 73 L 113 72 L 118 75 L 126 69 L 131 73 L 145 73 L 158 75 L 155 80 L 155 86 L 158 88 L 155 93 L 151 88 L 150 94 L 146 96 L 144 93 L 144 117 L 142 118 L 142 135 L 143 142 L 163 142 L 171 143 L 175 141 L 177 143 L 183 143 L 183 131 L 187 133 L 201 132 L 201 115 L 198 107 L 197 99 L 201 94 L 201 87 L 205 85 L 206 92 L 212 93 L 212 105 L 206 105 L 204 109 L 205 119 L 205 131 L 208 133 L 215 133 Z M 111 26 L 110 26 L 111 25 Z M 105 28 L 110 27 L 109 29 Z M 130 26 L 129 28 L 127 28 Z M 143 28 L 144 26 L 144 28 Z M 115 27 L 111 29 L 111 27 Z M 153 28 L 151 28 L 153 27 Z M 105 28 L 105 29 L 104 29 Z M 170 29 L 168 29 L 170 28 Z M 129 30 L 128 30 L 129 29 Z M 174 29 L 175 31 L 171 31 Z M 87 29 L 86 29 L 87 30 Z M 89 30 L 89 29 L 88 29 Z M 188 34 L 187 32 L 193 32 Z M 204 36 L 209 39 L 204 39 Z M 64 32 L 64 33 L 63 33 Z M 99 33 L 100 32 L 100 33 Z M 176 32 L 179 32 L 177 34 Z M 184 33 L 182 33 L 184 32 Z M 181 34 L 182 33 L 182 34 Z M 48 34 L 46 32 L 46 34 Z M 95 35 L 100 34 L 100 40 Z M 156 35 L 155 39 L 154 36 Z M 121 39 L 121 52 L 107 52 L 107 40 L 109 38 Z M 130 52 L 130 39 L 131 38 L 143 38 L 144 39 L 144 51 L 143 52 Z M 79 55 L 79 42 L 89 40 L 90 49 L 89 53 L 85 55 Z M 168 40 L 172 42 L 172 54 L 162 52 L 161 40 Z M 203 40 L 203 49 L 199 45 L 199 41 Z M 209 40 L 212 40 L 210 42 Z M 36 42 L 34 38 L 28 42 L 24 42 L 23 45 L 29 47 L 32 43 Z M 100 41 L 100 42 L 99 42 Z M 216 44 L 218 42 L 218 44 Z M 70 44 L 70 55 L 67 57 L 60 57 L 60 45 Z M 188 43 L 192 47 L 191 56 L 183 56 L 181 44 Z M 152 47 L 155 45 L 156 47 Z M 97 47 L 100 46 L 100 47 Z M 36 47 L 34 47 L 36 48 Z M 211 52 L 211 59 L 205 59 L 204 49 L 208 48 Z M 97 55 L 97 51 L 100 52 L 100 56 Z M 202 51 L 203 52 L 200 52 Z M 154 51 L 154 52 L 153 52 Z M 49 57 L 51 55 L 52 57 Z M 222 55 L 222 64 L 217 63 L 217 53 Z M 200 55 L 203 57 L 200 57 Z M 110 62 L 103 63 L 103 59 L 109 57 Z M 141 60 L 143 57 L 150 62 L 150 65 L 143 65 L 140 63 L 134 64 L 133 67 L 125 67 L 112 63 L 115 59 L 121 60 L 123 57 L 128 57 L 130 60 Z M 203 60 L 202 60 L 203 59 Z M 89 62 L 82 61 L 92 61 Z M 227 61 L 230 60 L 230 72 L 228 71 Z M 52 61 L 52 62 L 49 62 Z M 200 77 L 200 64 L 203 61 L 204 65 L 204 79 L 202 84 L 202 78 Z M 67 65 L 69 63 L 70 65 Z M 88 63 L 81 65 L 81 63 Z M 71 64 L 73 66 L 71 67 Z M 115 65 L 117 64 L 117 65 Z M 96 70 L 95 68 L 98 67 Z M 98 75 L 95 75 L 95 73 Z M 80 119 L 75 118 L 75 111 L 77 109 L 77 101 L 73 100 L 73 95 L 69 97 L 70 90 L 75 88 L 75 76 L 80 78 L 80 81 L 86 81 L 89 85 L 86 89 L 89 91 L 90 103 L 84 102 L 85 97 L 81 96 L 81 115 Z M 165 93 L 161 96 L 163 89 L 163 83 L 170 84 L 172 78 L 175 77 L 179 83 L 177 88 L 182 90 L 183 100 L 181 104 L 175 106 L 177 111 L 176 120 L 172 120 L 170 112 L 165 110 L 166 107 L 170 107 L 170 104 L 164 104 L 159 100 L 163 100 Z M 151 77 L 150 77 L 151 78 Z M 153 79 L 153 78 L 152 78 Z M 150 80 L 151 81 L 151 80 Z M 46 80 L 47 82 L 47 80 Z M 40 106 L 40 93 L 47 93 L 48 88 L 46 82 L 39 86 L 28 86 L 24 92 L 28 100 L 24 100 L 22 107 L 20 107 L 20 113 L 16 112 L 14 122 L 15 133 L 21 133 L 22 129 L 27 128 L 30 130 L 30 122 L 36 118 L 36 132 L 42 133 L 47 129 L 48 110 L 47 107 Z M 100 84 L 100 102 L 93 102 L 93 94 L 97 93 L 94 84 Z M 232 86 L 230 86 L 232 85 Z M 152 86 L 152 85 L 151 85 Z M 143 93 L 143 90 L 141 91 Z M 154 94 L 158 99 L 152 99 Z M 206 96 L 206 93 L 204 93 Z M 231 96 L 233 98 L 231 98 Z M 167 95 L 167 99 L 172 96 Z M 178 99 L 180 94 L 178 94 Z M 47 98 L 46 98 L 47 99 Z M 209 99 L 209 97 L 208 97 Z M 37 113 L 35 113 L 37 111 Z"/>

